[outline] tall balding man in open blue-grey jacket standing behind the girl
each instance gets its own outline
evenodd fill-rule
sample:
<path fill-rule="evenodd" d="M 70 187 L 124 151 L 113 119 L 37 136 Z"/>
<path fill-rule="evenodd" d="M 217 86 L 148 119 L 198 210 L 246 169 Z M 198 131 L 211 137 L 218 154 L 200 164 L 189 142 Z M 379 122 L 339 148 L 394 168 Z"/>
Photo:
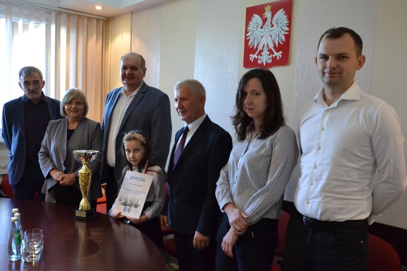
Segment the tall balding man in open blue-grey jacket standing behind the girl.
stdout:
<path fill-rule="evenodd" d="M 167 94 L 143 82 L 146 61 L 136 53 L 122 56 L 120 76 L 123 87 L 107 93 L 103 114 L 103 157 L 101 183 L 106 183 L 106 208 L 118 195 L 117 182 L 126 166 L 121 151 L 126 132 L 140 129 L 151 141 L 150 161 L 165 166 L 171 142 L 171 113 Z"/>

